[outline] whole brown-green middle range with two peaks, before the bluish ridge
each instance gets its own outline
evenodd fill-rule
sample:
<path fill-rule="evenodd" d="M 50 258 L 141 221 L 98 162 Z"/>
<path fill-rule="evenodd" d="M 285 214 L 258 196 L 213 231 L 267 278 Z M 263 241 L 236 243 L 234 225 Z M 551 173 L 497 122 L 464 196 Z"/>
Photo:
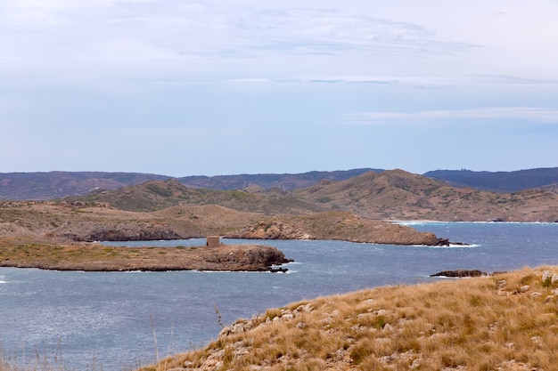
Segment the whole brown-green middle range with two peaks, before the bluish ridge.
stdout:
<path fill-rule="evenodd" d="M 70 205 L 96 203 L 144 212 L 170 206 L 218 205 L 266 215 L 336 210 L 380 220 L 558 221 L 558 193 L 552 190 L 489 192 L 455 187 L 403 170 L 368 172 L 344 181 L 323 180 L 286 192 L 193 189 L 171 179 L 62 200 Z"/>

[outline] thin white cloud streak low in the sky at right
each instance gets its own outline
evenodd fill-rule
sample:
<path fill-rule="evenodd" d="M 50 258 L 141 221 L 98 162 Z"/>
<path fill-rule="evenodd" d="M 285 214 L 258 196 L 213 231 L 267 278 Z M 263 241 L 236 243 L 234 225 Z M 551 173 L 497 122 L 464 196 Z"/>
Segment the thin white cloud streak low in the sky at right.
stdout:
<path fill-rule="evenodd" d="M 482 109 L 429 110 L 422 112 L 359 112 L 344 115 L 347 125 L 379 125 L 389 122 L 426 123 L 439 120 L 529 120 L 558 124 L 558 109 L 536 107 L 492 107 Z"/>

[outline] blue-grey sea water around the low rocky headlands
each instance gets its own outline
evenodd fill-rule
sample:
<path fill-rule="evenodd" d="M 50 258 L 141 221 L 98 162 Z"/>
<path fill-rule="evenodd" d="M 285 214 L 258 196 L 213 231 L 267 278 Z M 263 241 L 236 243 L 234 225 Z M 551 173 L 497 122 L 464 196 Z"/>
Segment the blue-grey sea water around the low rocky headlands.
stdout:
<path fill-rule="evenodd" d="M 441 270 L 558 264 L 558 223 L 400 223 L 468 246 L 223 239 L 276 246 L 294 262 L 284 265 L 286 273 L 0 268 L 0 351 L 17 367 L 127 371 L 198 349 L 235 319 L 291 302 L 449 279 L 431 278 Z M 204 246 L 205 240 L 103 244 Z"/>

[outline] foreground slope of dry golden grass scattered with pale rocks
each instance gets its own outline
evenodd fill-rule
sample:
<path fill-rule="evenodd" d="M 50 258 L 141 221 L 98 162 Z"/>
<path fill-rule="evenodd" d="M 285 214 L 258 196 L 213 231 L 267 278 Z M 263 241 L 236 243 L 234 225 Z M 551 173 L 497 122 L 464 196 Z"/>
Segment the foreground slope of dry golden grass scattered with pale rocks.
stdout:
<path fill-rule="evenodd" d="M 142 370 L 554 370 L 552 272 L 558 267 L 291 303 Z"/>

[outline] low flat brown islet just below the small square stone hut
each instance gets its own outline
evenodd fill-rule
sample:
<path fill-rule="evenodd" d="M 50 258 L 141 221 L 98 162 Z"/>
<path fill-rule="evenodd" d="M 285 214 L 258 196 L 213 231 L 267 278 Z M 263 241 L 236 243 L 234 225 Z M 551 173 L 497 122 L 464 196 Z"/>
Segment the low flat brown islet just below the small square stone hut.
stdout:
<path fill-rule="evenodd" d="M 285 271 L 274 267 L 291 262 L 274 246 L 262 245 L 125 247 L 56 241 L 37 243 L 21 238 L 3 238 L 0 242 L 0 267 L 43 270 Z"/>

